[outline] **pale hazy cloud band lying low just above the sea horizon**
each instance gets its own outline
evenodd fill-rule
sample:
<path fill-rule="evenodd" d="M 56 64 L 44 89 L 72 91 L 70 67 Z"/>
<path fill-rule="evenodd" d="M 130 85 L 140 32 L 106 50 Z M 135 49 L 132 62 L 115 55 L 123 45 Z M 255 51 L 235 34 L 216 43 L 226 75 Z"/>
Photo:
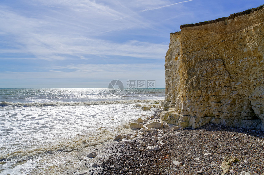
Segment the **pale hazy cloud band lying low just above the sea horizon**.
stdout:
<path fill-rule="evenodd" d="M 162 63 L 163 64 L 163 63 Z M 165 75 L 161 65 L 155 65 L 152 70 L 143 76 L 150 69 L 151 64 L 111 64 L 120 75 L 118 75 L 108 64 L 69 64 L 67 66 L 44 67 L 46 71 L 40 72 L 0 72 L 0 81 L 4 85 L 6 80 L 14 80 L 13 87 L 29 87 L 34 84 L 38 87 L 44 83 L 45 87 L 101 87 L 107 88 L 108 83 L 113 79 L 119 79 L 124 84 L 130 80 L 156 80 L 159 88 L 165 86 Z M 37 68 L 37 67 L 34 67 Z M 63 71 L 64 70 L 64 71 Z M 65 71 L 67 70 L 67 71 Z M 74 83 L 72 82 L 74 81 Z M 49 84 L 53 82 L 53 84 Z M 56 83 L 60 82 L 60 83 Z M 99 86 L 98 83 L 101 82 Z M 61 86 L 63 85 L 63 86 Z M 67 85 L 67 86 L 65 86 Z M 158 88 L 158 87 L 157 87 Z"/>

